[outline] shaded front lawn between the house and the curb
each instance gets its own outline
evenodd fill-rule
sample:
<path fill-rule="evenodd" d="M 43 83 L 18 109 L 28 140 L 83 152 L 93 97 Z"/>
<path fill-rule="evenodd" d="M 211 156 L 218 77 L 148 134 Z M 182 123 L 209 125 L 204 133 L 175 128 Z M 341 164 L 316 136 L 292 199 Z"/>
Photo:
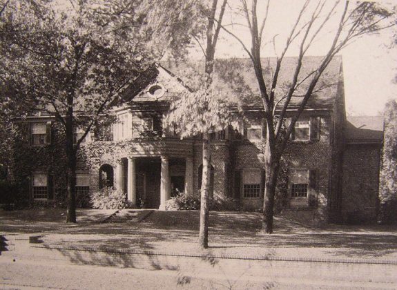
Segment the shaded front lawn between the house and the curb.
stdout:
<path fill-rule="evenodd" d="M 154 211 L 142 222 L 103 223 L 114 211 L 79 210 L 77 224 L 66 224 L 65 211 L 0 211 L 6 235 L 44 235 L 48 247 L 110 251 L 197 253 L 198 211 Z M 397 262 L 396 226 L 339 226 L 315 229 L 275 217 L 274 233 L 262 235 L 260 213 L 210 214 L 208 250 L 240 258 L 365 259 Z"/>

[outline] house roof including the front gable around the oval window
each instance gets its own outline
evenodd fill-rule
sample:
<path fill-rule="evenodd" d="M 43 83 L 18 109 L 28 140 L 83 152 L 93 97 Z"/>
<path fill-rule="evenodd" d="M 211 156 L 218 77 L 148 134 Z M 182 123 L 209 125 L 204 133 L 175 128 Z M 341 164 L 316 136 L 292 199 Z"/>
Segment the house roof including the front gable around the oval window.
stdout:
<path fill-rule="evenodd" d="M 282 67 L 278 77 L 278 88 L 276 90 L 276 98 L 282 97 L 284 88 L 286 88 L 293 77 L 296 67 L 297 57 L 284 57 Z M 298 81 L 307 77 L 309 72 L 315 70 L 322 61 L 322 57 L 304 57 L 302 68 Z M 265 81 L 270 83 L 275 69 L 276 59 L 262 59 L 262 68 Z M 318 86 L 313 93 L 313 97 L 309 99 L 307 108 L 332 108 L 335 104 L 338 85 L 342 81 L 341 76 L 342 58 L 334 57 L 325 72 L 323 72 Z M 112 103 L 112 106 L 133 105 L 134 103 L 151 103 L 153 101 L 170 101 L 177 98 L 183 90 L 190 90 L 188 87 L 189 79 L 192 79 L 194 72 L 204 71 L 204 61 L 182 62 L 182 61 L 164 61 L 162 64 L 156 64 L 148 68 L 142 75 L 139 75 L 131 84 L 119 94 Z M 186 80 L 186 84 L 184 80 Z M 193 77 L 193 81 L 197 81 L 197 77 Z M 220 84 L 221 90 L 231 99 L 234 98 L 235 103 L 240 102 L 245 107 L 262 107 L 262 101 L 259 96 L 258 83 L 255 79 L 253 65 L 251 59 L 217 59 L 215 61 L 214 79 Z M 290 107 L 298 106 L 302 100 L 302 93 L 308 85 L 309 78 L 302 81 L 300 90 L 296 96 L 291 99 Z M 162 97 L 154 98 L 148 94 L 148 90 L 153 84 L 159 84 L 165 88 L 166 93 Z M 322 88 L 317 91 L 317 88 Z M 235 93 L 235 94 L 233 94 Z M 234 95 L 234 97 L 232 96 Z M 282 102 L 280 103 L 282 105 Z"/>

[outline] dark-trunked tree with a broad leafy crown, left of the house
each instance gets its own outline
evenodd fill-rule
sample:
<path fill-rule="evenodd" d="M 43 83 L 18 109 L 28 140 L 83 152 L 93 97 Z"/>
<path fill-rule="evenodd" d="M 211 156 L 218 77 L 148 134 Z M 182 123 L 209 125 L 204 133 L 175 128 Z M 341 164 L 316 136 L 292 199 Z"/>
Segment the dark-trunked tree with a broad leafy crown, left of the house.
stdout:
<path fill-rule="evenodd" d="M 76 222 L 75 172 L 81 142 L 106 113 L 109 101 L 150 57 L 139 41 L 141 19 L 122 12 L 115 18 L 122 6 L 109 3 L 9 0 L 1 6 L 0 78 L 12 90 L 8 106 L 47 111 L 65 129 L 66 222 Z M 125 23 L 137 28 L 125 29 Z M 76 128 L 84 134 L 73 144 Z"/>

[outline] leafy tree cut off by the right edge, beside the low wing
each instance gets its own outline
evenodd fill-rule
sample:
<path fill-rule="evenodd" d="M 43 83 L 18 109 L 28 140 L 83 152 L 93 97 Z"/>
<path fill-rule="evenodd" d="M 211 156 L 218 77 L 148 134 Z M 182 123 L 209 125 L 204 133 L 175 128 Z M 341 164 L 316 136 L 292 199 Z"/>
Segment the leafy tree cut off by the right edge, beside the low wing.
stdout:
<path fill-rule="evenodd" d="M 380 221 L 396 222 L 397 211 L 397 101 L 385 106 L 385 135 L 380 170 Z"/>

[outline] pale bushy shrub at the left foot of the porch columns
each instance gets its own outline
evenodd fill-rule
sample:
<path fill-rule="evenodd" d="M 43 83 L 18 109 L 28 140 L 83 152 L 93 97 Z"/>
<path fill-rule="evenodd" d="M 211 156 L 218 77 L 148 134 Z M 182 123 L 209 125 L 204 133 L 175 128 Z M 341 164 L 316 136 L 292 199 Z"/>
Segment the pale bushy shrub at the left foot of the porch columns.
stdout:
<path fill-rule="evenodd" d="M 92 193 L 90 202 L 94 209 L 128 209 L 131 205 L 126 200 L 126 195 L 111 187 L 104 187 Z"/>

